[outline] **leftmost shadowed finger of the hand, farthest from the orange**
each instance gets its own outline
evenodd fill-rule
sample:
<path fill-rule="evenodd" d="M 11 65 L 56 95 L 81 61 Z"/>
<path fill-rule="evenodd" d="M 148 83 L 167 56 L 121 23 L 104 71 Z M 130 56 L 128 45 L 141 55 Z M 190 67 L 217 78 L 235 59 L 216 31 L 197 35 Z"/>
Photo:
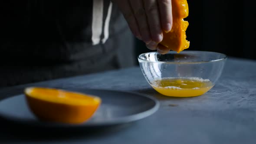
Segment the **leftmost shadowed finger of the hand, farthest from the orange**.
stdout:
<path fill-rule="evenodd" d="M 128 23 L 129 28 L 131 29 L 131 32 L 140 40 L 141 33 L 138 28 L 138 23 L 135 19 L 135 16 L 133 14 L 133 11 L 131 9 L 130 3 L 128 0 L 112 0 L 112 2 L 116 3 L 123 13 L 123 16 L 125 17 L 125 20 Z"/>

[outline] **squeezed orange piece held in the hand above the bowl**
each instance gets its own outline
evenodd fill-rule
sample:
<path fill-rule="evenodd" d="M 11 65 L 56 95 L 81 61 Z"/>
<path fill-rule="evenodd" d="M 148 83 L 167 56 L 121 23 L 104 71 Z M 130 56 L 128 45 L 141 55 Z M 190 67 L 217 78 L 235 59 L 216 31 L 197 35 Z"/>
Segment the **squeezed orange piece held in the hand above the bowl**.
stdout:
<path fill-rule="evenodd" d="M 164 38 L 161 44 L 179 53 L 190 45 L 186 39 L 188 22 L 183 20 L 188 16 L 188 4 L 187 0 L 172 0 L 171 2 L 173 26 L 170 32 L 163 33 Z"/>

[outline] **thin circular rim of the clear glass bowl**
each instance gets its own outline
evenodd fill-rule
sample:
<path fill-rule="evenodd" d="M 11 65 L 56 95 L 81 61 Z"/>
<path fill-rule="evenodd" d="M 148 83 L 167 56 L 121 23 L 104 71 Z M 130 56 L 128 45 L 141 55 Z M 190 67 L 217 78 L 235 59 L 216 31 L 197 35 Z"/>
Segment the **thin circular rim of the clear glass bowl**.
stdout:
<path fill-rule="evenodd" d="M 187 51 L 181 51 L 180 53 L 185 53 L 185 52 L 210 52 L 210 51 L 197 51 L 197 50 L 187 50 Z M 138 56 L 138 60 L 141 60 L 141 61 L 144 61 L 144 62 L 152 62 L 150 60 L 146 60 L 146 59 L 141 59 L 141 56 L 142 55 L 145 55 L 145 54 L 148 54 L 148 53 L 158 53 L 158 52 L 145 52 L 145 53 L 141 53 L 139 56 Z M 180 53 L 177 53 L 175 51 L 170 51 L 170 52 L 167 52 L 166 54 L 180 54 Z M 220 61 L 223 61 L 223 60 L 226 60 L 227 59 L 227 56 L 223 53 L 220 53 L 220 52 L 210 52 L 210 53 L 216 53 L 216 54 L 220 54 L 220 55 L 223 55 L 223 58 L 220 58 L 220 59 L 213 59 L 213 60 L 209 60 L 209 61 L 202 61 L 202 62 L 161 62 L 161 61 L 157 61 L 157 62 L 152 62 L 152 63 L 165 63 L 165 64 L 200 64 L 200 63 L 209 63 L 209 62 L 220 62 Z M 160 53 L 158 53 L 160 54 Z"/>

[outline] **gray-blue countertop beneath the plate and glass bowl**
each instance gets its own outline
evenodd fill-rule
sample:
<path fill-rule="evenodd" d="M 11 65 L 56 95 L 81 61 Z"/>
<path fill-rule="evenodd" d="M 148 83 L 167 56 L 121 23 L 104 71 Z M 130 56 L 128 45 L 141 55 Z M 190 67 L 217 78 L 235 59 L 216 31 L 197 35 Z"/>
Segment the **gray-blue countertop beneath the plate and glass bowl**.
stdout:
<path fill-rule="evenodd" d="M 130 124 L 100 131 L 80 131 L 75 135 L 70 132 L 65 137 L 17 134 L 15 128 L 2 122 L 0 144 L 256 143 L 256 61 L 229 58 L 217 84 L 205 95 L 194 98 L 171 98 L 159 94 L 148 85 L 139 67 L 2 88 L 0 98 L 20 94 L 30 85 L 138 92 L 157 98 L 160 108 L 153 115 Z"/>

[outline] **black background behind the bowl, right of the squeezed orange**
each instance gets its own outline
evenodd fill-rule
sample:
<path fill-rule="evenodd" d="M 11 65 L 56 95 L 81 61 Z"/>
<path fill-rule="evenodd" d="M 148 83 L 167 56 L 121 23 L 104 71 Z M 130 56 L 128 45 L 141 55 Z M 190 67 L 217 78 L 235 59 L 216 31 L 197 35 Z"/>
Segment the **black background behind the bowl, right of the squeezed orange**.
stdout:
<path fill-rule="evenodd" d="M 187 0 L 186 50 L 256 59 L 256 0 Z M 150 52 L 136 39 L 136 56 Z"/>

